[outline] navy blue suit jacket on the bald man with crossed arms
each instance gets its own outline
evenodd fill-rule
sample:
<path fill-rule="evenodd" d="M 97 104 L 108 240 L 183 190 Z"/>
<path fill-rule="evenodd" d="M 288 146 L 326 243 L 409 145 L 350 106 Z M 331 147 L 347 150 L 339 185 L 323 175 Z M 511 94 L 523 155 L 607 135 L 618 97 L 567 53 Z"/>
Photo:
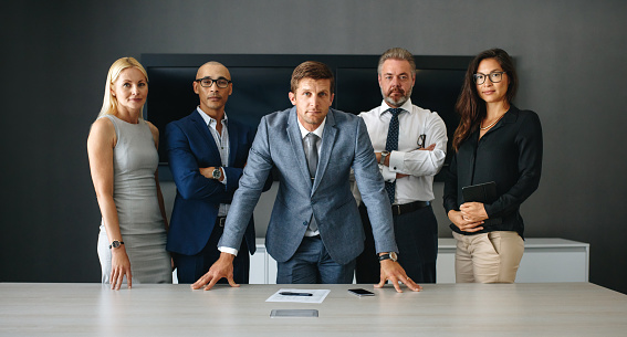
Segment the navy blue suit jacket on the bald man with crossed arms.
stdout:
<path fill-rule="evenodd" d="M 227 176 L 224 186 L 200 175 L 199 168 L 220 167 L 222 162 L 211 131 L 198 110 L 166 126 L 169 166 L 177 187 L 166 246 L 170 252 L 199 253 L 211 235 L 220 203 L 231 203 L 254 139 L 254 129 L 232 118 L 227 127 L 230 155 L 228 166 L 222 167 Z M 254 253 L 252 215 L 244 238 L 250 253 Z"/>

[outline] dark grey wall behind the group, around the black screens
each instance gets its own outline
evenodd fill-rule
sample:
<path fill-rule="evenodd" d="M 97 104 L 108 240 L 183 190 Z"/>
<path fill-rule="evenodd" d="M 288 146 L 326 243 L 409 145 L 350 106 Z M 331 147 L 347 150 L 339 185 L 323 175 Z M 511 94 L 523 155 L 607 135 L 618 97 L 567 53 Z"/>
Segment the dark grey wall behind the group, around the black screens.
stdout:
<path fill-rule="evenodd" d="M 85 140 L 117 57 L 500 46 L 518 62 L 516 104 L 544 127 L 527 235 L 589 242 L 591 281 L 627 293 L 624 1 L 12 1 L 0 19 L 0 281 L 98 282 Z"/>

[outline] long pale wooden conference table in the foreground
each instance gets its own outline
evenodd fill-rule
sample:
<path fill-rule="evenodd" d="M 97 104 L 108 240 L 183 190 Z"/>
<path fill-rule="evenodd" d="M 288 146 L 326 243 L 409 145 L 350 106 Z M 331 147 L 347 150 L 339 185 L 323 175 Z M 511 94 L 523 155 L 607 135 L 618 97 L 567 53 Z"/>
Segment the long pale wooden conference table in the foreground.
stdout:
<path fill-rule="evenodd" d="M 281 287 L 331 289 L 321 304 L 268 303 Z M 627 295 L 591 283 L 356 285 L 0 283 L 0 336 L 627 336 Z M 372 289 L 372 285 L 360 287 Z M 270 318 L 272 309 L 317 318 Z"/>

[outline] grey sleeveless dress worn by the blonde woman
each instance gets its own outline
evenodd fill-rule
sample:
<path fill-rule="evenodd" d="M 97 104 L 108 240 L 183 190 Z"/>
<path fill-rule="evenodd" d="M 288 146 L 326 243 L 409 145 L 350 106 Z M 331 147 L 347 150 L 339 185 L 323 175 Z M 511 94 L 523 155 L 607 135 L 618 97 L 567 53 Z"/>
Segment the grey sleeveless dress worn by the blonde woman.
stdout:
<path fill-rule="evenodd" d="M 166 230 L 155 183 L 159 158 L 150 127 L 143 119 L 130 124 L 112 115 L 106 117 L 115 126 L 117 136 L 113 149 L 113 199 L 122 240 L 130 260 L 133 284 L 171 283 L 170 256 L 166 251 Z M 109 283 L 111 276 L 108 245 L 106 230 L 101 223 L 98 257 L 103 283 Z"/>

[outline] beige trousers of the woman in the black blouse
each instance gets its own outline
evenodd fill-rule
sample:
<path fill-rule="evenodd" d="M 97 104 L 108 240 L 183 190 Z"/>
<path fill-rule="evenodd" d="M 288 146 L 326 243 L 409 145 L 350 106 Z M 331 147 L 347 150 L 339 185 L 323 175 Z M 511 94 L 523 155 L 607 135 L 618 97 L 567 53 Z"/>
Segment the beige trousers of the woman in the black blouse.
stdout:
<path fill-rule="evenodd" d="M 454 275 L 457 283 L 513 283 L 524 252 L 516 232 L 461 235 L 457 240 Z"/>

